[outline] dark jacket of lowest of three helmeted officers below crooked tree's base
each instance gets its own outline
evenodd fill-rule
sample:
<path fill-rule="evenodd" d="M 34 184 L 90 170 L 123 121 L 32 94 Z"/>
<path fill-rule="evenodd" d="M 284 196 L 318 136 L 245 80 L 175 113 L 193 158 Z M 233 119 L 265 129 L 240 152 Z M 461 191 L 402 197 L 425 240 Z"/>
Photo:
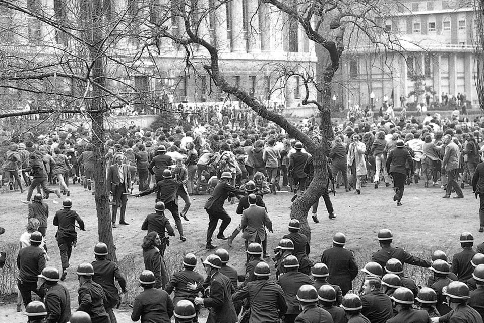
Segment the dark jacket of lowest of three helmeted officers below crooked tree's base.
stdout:
<path fill-rule="evenodd" d="M 290 271 L 284 275 L 280 275 L 277 284 L 281 285 L 286 298 L 287 312 L 286 314 L 299 314 L 301 312 L 299 301 L 296 299 L 299 287 L 305 284 L 313 284 L 311 278 L 296 271 Z"/>

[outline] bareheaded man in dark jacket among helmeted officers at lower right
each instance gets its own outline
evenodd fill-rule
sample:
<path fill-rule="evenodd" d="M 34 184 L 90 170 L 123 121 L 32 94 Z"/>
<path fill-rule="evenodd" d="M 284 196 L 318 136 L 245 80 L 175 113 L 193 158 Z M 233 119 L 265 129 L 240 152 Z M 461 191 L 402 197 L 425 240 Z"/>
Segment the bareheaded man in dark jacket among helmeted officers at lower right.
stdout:
<path fill-rule="evenodd" d="M 393 316 L 392 300 L 382 291 L 381 281 L 377 277 L 365 279 L 361 306 L 361 314 L 372 323 L 385 323 Z"/>

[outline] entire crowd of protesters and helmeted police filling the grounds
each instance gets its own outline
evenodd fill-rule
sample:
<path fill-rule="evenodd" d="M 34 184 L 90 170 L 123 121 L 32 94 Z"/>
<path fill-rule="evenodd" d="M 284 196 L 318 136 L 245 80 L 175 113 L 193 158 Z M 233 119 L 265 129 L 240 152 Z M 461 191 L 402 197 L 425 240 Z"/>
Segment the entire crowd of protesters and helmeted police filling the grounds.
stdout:
<path fill-rule="evenodd" d="M 227 106 L 206 121 L 193 116 L 190 129 L 146 130 L 131 125 L 128 131 L 115 131 L 104 138 L 112 228 L 129 225 L 125 219 L 127 196 L 142 198 L 156 193 L 155 211 L 141 228 L 146 231 L 142 247 L 145 271 L 139 276 L 143 292 L 133 303 L 133 321 L 169 322 L 174 315 L 177 322 L 197 322 L 200 309 L 206 307 L 210 322 L 224 323 L 235 323 L 239 315 L 241 320 L 254 323 L 281 319 L 286 323 L 482 322 L 484 246 L 474 251 L 474 238 L 468 232 L 460 238 L 463 251 L 449 262 L 442 251 L 436 251 L 430 261 L 395 248 L 392 233 L 380 230 L 382 249 L 359 269 L 366 276 L 358 290 L 353 288 L 358 266 L 352 252 L 344 248 L 345 235 L 336 233 L 333 247 L 323 252 L 320 262 L 313 263 L 308 239 L 300 233 L 299 221 L 293 219 L 288 224 L 289 233 L 275 248 L 272 270 L 265 260 L 270 257 L 266 231 L 272 232 L 273 224 L 264 195 L 287 190 L 294 200 L 313 180 L 313 159 L 300 141 L 275 124 L 256 124 L 243 116 Z M 246 127 L 241 128 L 243 120 Z M 405 185 L 422 181 L 425 188 L 442 186 L 444 198 L 453 192 L 454 198 L 463 198 L 463 189 L 472 187 L 480 196 L 479 231 L 484 231 L 482 120 L 469 122 L 438 114 L 418 120 L 385 114 L 380 118 L 361 116 L 333 126 L 335 138 L 326 157 L 329 180 L 327 189 L 320 192 L 330 220 L 336 218 L 328 194 L 331 182 L 335 183 L 332 190 L 344 186 L 341 192 L 354 191 L 354 198 L 367 193 L 370 183 L 373 194 L 385 192 L 375 191 L 383 185 L 393 185 L 393 201 L 403 205 Z M 297 127 L 314 142 L 321 140 L 315 117 Z M 8 183 L 9 190 L 19 189 L 22 194 L 28 187 L 24 202 L 29 205 L 29 223 L 17 259 L 18 309 L 22 302 L 32 322 L 64 323 L 71 316 L 69 292 L 59 281 L 68 277 L 72 247 L 77 243 L 76 223 L 84 230 L 81 217 L 72 209 L 75 193 L 71 197 L 70 187 L 81 184 L 93 194 L 96 190 L 94 147 L 89 136 L 84 128 L 56 131 L 41 140 L 22 138 L 0 153 L 2 184 Z M 59 188 L 53 190 L 49 184 Z M 46 267 L 49 209 L 45 199 L 49 194 L 58 198 L 66 195 L 53 219 L 61 271 Z M 176 229 L 180 241 L 187 241 L 181 220 L 190 220 L 190 197 L 194 194 L 209 195 L 204 204 L 209 220 L 206 249 L 215 252 L 203 261 L 206 278 L 194 271 L 197 258 L 192 253 L 180 259 L 184 269 L 170 277 L 164 262 L 169 236 L 175 236 Z M 181 210 L 179 197 L 184 201 Z M 231 217 L 224 203 L 236 200 L 241 222 L 226 236 Z M 315 223 L 320 221 L 317 209 L 318 202 L 311 209 Z M 218 220 L 221 225 L 216 238 L 226 240 L 229 247 L 243 233 L 245 273 L 239 275 L 230 267 L 229 252 L 212 243 Z M 95 261 L 82 263 L 75 271 L 80 288 L 79 308 L 73 317 L 77 322 L 113 323 L 112 309 L 119 303 L 115 281 L 123 293 L 126 281 L 117 265 L 107 260 L 105 244 L 96 244 L 94 255 Z M 403 276 L 404 263 L 432 271 L 426 287 Z M 270 279 L 272 274 L 276 280 Z M 32 292 L 43 303 L 31 302 Z M 174 294 L 173 299 L 170 294 Z"/>

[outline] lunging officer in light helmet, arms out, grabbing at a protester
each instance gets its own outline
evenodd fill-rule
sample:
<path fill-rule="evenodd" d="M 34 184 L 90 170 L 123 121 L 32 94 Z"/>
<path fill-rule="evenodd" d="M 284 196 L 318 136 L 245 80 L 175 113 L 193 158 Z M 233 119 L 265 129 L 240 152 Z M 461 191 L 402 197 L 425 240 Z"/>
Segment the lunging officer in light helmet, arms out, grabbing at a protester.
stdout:
<path fill-rule="evenodd" d="M 205 203 L 205 210 L 208 213 L 209 223 L 207 230 L 207 244 L 206 249 L 215 249 L 216 246 L 212 245 L 212 235 L 217 228 L 218 220 L 222 220 L 220 224 L 219 232 L 217 234 L 217 239 L 227 240 L 228 238 L 223 235 L 223 231 L 230 224 L 232 219 L 228 215 L 227 211 L 223 208 L 223 203 L 228 197 L 235 197 L 237 195 L 244 194 L 244 191 L 233 187 L 230 184 L 232 180 L 232 174 L 229 172 L 223 172 L 218 182 L 215 186 L 212 195 L 208 198 Z"/>

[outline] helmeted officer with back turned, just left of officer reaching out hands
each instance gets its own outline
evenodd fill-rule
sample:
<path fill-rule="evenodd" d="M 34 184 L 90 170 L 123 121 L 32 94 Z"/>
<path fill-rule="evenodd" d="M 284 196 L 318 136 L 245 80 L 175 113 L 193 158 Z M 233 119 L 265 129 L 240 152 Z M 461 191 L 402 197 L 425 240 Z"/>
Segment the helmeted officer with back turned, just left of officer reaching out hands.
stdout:
<path fill-rule="evenodd" d="M 177 304 L 181 300 L 189 300 L 194 305 L 195 297 L 198 296 L 197 291 L 193 291 L 187 288 L 190 284 L 201 284 L 203 282 L 203 276 L 195 272 L 194 269 L 197 266 L 197 257 L 193 253 L 187 253 L 183 257 L 183 270 L 174 273 L 171 276 L 170 281 L 165 286 L 165 291 L 170 295 L 173 291 L 175 295 L 173 297 L 173 303 Z M 200 312 L 200 306 L 194 307 L 194 321 L 198 321 L 198 313 Z M 175 317 L 176 305 L 175 305 Z"/>

